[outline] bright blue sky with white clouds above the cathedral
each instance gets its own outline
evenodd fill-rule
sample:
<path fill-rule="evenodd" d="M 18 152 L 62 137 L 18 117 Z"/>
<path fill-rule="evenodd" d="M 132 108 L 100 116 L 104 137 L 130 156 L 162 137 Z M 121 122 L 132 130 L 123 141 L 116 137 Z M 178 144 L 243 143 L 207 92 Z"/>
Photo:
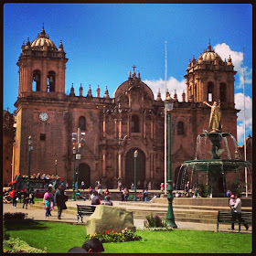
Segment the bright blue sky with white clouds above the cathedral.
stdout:
<path fill-rule="evenodd" d="M 155 98 L 160 89 L 164 99 L 166 46 L 167 89 L 181 100 L 189 59 L 198 59 L 210 42 L 223 60 L 230 55 L 237 71 L 238 144 L 243 144 L 244 99 L 246 137 L 252 135 L 250 4 L 5 4 L 4 110 L 16 110 L 22 43 L 36 39 L 43 26 L 67 53 L 66 93 L 73 83 L 78 95 L 82 84 L 84 96 L 90 85 L 96 96 L 99 85 L 101 97 L 106 86 L 112 97 L 135 65 Z"/>

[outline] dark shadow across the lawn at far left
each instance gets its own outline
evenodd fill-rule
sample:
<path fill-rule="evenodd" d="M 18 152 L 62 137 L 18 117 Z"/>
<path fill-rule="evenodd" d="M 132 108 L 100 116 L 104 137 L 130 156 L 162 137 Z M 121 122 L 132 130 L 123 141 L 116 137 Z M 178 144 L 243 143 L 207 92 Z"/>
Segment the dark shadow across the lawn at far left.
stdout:
<path fill-rule="evenodd" d="M 8 219 L 5 220 L 6 230 L 20 230 L 20 229 L 48 229 L 41 223 L 38 223 L 34 219 Z"/>

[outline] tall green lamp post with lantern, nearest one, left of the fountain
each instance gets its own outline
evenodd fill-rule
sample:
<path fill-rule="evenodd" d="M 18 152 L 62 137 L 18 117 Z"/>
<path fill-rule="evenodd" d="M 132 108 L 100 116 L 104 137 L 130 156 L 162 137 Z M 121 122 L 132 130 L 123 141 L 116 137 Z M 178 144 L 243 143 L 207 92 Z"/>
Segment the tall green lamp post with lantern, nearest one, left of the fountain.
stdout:
<path fill-rule="evenodd" d="M 174 100 L 171 98 L 170 94 L 168 93 L 166 100 L 165 100 L 165 109 L 166 112 L 168 113 L 168 195 L 167 195 L 167 200 L 168 200 L 168 212 L 166 215 L 166 224 L 171 225 L 174 229 L 177 228 L 176 223 L 175 223 L 175 215 L 173 211 L 173 179 L 172 179 L 172 166 L 171 166 L 171 111 L 174 108 Z"/>

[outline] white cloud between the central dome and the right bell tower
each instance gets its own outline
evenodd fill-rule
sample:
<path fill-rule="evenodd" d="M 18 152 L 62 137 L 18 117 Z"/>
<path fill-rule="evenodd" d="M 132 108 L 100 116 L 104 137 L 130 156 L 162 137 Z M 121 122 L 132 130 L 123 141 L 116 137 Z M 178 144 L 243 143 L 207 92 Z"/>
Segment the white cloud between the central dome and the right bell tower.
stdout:
<path fill-rule="evenodd" d="M 162 80 L 161 78 L 159 80 L 144 80 L 144 83 L 148 85 L 153 91 L 155 99 L 157 96 L 157 92 L 160 89 L 161 98 L 163 101 L 165 101 L 165 80 Z M 182 101 L 183 91 L 185 91 L 185 93 L 187 92 L 186 80 L 179 81 L 176 80 L 176 78 L 174 77 L 170 77 L 168 80 L 166 80 L 166 87 L 171 93 L 172 98 L 174 97 L 174 93 L 176 90 L 178 101 Z"/>

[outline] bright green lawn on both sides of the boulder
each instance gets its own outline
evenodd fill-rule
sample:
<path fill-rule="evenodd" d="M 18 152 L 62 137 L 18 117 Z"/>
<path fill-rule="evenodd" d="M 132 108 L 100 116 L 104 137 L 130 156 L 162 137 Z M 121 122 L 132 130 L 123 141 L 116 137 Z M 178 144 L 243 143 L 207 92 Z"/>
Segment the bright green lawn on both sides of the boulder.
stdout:
<path fill-rule="evenodd" d="M 86 226 L 51 221 L 6 224 L 12 238 L 25 240 L 30 246 L 51 253 L 65 253 L 87 240 Z M 105 253 L 250 253 L 251 234 L 222 233 L 200 230 L 142 231 L 143 240 L 104 243 Z M 234 246 L 235 243 L 235 246 Z"/>

